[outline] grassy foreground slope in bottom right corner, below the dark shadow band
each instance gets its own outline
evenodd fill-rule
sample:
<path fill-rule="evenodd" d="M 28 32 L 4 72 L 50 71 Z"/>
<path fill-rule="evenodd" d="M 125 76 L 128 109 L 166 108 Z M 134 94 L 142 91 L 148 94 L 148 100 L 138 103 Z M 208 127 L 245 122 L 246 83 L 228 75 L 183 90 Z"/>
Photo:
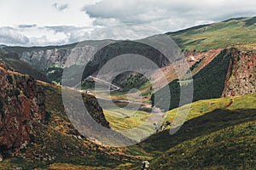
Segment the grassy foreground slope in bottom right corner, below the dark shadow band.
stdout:
<path fill-rule="evenodd" d="M 255 119 L 224 127 L 216 132 L 177 144 L 157 158 L 151 167 L 153 169 L 253 169 L 256 166 L 255 134 Z"/>

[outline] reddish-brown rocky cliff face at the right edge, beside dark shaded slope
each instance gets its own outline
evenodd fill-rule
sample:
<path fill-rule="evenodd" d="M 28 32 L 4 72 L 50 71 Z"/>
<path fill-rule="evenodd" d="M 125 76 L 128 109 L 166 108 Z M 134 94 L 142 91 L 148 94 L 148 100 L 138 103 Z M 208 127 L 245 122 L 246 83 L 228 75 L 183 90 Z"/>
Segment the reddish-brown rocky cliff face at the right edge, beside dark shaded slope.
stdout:
<path fill-rule="evenodd" d="M 222 96 L 256 93 L 256 54 L 253 51 L 233 48 L 230 56 L 231 59 Z"/>

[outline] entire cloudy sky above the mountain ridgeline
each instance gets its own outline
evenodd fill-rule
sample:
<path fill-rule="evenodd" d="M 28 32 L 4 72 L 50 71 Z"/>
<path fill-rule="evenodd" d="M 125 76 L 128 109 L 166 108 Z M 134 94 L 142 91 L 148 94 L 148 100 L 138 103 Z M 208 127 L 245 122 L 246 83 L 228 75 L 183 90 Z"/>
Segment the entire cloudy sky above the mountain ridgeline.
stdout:
<path fill-rule="evenodd" d="M 0 44 L 136 39 L 240 16 L 255 0 L 0 0 Z M 128 24 L 128 25 L 127 25 Z"/>

